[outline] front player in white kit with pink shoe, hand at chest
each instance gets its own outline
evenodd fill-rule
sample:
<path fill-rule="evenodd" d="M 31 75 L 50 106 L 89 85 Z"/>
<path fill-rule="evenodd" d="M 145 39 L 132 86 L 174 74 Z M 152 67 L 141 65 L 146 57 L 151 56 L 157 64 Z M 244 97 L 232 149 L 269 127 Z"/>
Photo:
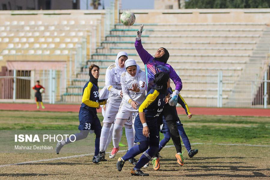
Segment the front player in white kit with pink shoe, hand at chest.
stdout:
<path fill-rule="evenodd" d="M 120 81 L 123 91 L 123 98 L 114 123 L 114 148 L 109 155 L 110 158 L 114 158 L 116 153 L 119 151 L 119 142 L 123 125 L 125 125 L 129 149 L 133 147 L 134 132 L 132 124 L 134 124 L 134 122 L 132 122 L 130 117 L 132 116 L 132 113 L 134 113 L 135 117 L 137 116 L 138 108 L 145 99 L 146 75 L 144 71 L 140 69 L 140 66 L 136 64 L 134 59 L 127 59 L 125 62 L 125 68 L 126 72 L 121 75 Z M 129 134 L 127 134 L 127 132 Z"/>

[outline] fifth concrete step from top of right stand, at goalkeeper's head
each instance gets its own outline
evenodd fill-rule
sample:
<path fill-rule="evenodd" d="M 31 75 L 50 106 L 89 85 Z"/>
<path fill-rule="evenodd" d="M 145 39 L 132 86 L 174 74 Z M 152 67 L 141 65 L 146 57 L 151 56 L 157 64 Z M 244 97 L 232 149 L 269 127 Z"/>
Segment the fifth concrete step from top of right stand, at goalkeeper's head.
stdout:
<path fill-rule="evenodd" d="M 165 47 L 166 48 L 166 47 Z M 228 47 L 169 47 L 166 48 L 170 54 L 188 53 L 188 54 L 251 54 L 253 48 L 228 48 Z M 154 53 L 157 47 L 145 48 L 147 52 Z M 97 49 L 97 53 L 118 53 L 119 51 L 125 51 L 129 53 L 135 53 L 135 47 L 110 47 Z"/>

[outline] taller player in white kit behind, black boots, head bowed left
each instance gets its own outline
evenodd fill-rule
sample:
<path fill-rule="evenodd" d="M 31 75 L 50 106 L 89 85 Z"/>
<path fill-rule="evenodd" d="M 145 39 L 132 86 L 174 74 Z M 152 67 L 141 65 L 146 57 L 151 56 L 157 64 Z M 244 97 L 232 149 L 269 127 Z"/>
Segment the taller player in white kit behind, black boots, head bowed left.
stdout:
<path fill-rule="evenodd" d="M 105 157 L 105 146 L 108 141 L 110 128 L 114 122 L 123 97 L 120 77 L 122 73 L 126 72 L 124 64 L 127 58 L 128 54 L 126 52 L 118 52 L 115 63 L 109 66 L 106 70 L 105 87 L 109 91 L 109 97 L 106 104 L 106 112 L 101 130 L 99 154 L 93 161 L 94 163 L 99 163 L 102 158 Z"/>

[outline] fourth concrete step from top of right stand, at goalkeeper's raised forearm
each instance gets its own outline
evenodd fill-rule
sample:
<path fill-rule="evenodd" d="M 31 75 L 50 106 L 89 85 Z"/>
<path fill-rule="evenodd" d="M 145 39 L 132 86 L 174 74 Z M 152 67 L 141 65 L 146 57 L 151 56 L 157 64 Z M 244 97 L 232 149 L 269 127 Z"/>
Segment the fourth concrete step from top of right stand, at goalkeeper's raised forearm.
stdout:
<path fill-rule="evenodd" d="M 110 47 L 134 47 L 135 38 L 132 41 L 102 41 L 101 46 Z M 144 48 L 173 48 L 173 47 L 228 47 L 228 48 L 253 48 L 256 41 L 144 41 Z"/>

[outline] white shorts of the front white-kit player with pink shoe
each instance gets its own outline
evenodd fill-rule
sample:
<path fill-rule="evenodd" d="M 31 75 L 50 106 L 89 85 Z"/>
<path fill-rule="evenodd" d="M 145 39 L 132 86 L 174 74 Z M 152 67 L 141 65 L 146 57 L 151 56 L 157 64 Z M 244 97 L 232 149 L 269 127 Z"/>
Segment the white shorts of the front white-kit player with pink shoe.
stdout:
<path fill-rule="evenodd" d="M 133 108 L 130 109 L 129 107 L 125 107 L 123 105 L 123 103 L 121 103 L 120 107 L 119 107 L 119 111 L 116 115 L 116 118 L 117 119 L 127 119 L 127 122 L 130 122 L 132 125 L 132 124 L 134 124 L 133 113 L 134 113 L 134 116 L 136 117 L 138 114 L 138 110 L 135 110 Z"/>

